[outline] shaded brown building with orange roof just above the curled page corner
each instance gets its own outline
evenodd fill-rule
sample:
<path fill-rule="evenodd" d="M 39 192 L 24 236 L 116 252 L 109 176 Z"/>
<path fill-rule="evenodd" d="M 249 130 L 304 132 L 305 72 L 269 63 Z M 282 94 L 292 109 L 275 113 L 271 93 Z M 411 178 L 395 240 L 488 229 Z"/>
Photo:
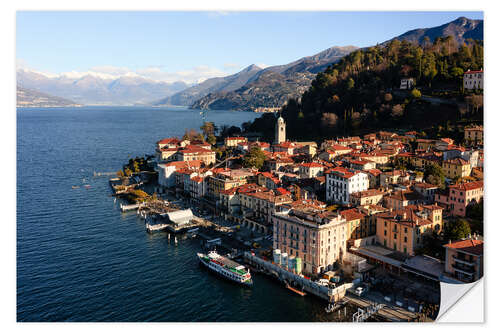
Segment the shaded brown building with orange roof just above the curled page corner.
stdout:
<path fill-rule="evenodd" d="M 444 245 L 445 272 L 462 282 L 474 282 L 483 276 L 483 241 L 469 238 Z"/>

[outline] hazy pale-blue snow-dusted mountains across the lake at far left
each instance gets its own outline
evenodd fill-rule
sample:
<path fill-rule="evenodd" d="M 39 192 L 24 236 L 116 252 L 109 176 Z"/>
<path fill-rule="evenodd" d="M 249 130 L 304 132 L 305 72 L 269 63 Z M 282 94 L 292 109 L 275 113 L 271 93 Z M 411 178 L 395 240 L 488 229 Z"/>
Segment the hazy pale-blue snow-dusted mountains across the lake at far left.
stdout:
<path fill-rule="evenodd" d="M 71 78 L 65 75 L 49 77 L 27 70 L 17 70 L 17 85 L 54 96 L 64 96 L 86 105 L 135 105 L 170 96 L 184 90 L 184 82 L 166 83 L 140 76 L 121 76 L 116 79 L 85 75 Z"/>

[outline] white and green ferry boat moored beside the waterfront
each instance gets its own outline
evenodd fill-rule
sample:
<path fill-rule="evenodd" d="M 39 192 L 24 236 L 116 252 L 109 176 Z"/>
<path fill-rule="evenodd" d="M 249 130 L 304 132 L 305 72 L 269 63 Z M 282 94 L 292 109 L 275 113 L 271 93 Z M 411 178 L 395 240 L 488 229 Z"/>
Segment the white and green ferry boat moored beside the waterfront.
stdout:
<path fill-rule="evenodd" d="M 197 253 L 200 262 L 210 270 L 222 275 L 228 280 L 251 286 L 252 277 L 250 271 L 243 265 L 238 264 L 215 251 L 208 254 Z"/>

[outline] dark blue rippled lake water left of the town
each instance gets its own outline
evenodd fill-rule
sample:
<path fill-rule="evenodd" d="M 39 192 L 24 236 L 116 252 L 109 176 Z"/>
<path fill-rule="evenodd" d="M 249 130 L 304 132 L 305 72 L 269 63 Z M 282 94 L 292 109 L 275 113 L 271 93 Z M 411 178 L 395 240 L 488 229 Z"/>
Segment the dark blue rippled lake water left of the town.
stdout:
<path fill-rule="evenodd" d="M 206 120 L 239 126 L 257 116 L 210 111 Z M 92 177 L 202 122 L 183 109 L 17 111 L 18 321 L 335 320 L 325 302 L 265 276 L 242 288 L 210 274 L 198 265 L 198 240 L 175 246 L 146 233 L 113 202 L 107 177 Z"/>

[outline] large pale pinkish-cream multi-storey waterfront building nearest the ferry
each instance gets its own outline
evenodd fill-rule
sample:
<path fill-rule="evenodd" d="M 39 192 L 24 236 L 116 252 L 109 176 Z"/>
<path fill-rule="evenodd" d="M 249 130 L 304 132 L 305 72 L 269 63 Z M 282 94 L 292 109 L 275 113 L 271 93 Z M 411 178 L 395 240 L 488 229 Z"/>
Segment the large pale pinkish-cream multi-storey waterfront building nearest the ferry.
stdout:
<path fill-rule="evenodd" d="M 310 206 L 275 213 L 272 220 L 273 248 L 301 258 L 303 272 L 329 271 L 342 262 L 347 222 L 341 215 Z"/>

